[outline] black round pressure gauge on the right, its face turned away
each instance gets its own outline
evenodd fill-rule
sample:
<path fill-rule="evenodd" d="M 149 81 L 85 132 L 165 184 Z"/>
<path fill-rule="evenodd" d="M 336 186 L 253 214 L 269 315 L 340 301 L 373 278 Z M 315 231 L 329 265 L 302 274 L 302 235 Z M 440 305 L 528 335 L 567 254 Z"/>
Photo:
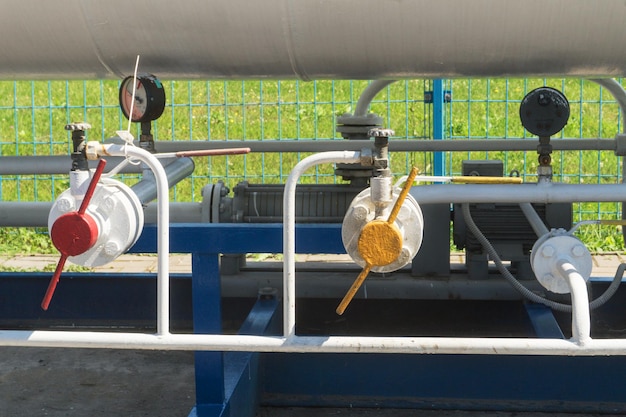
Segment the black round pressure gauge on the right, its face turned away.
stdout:
<path fill-rule="evenodd" d="M 519 108 L 522 125 L 533 135 L 557 134 L 569 119 L 569 102 L 563 93 L 550 87 L 539 87 L 522 100 Z"/>

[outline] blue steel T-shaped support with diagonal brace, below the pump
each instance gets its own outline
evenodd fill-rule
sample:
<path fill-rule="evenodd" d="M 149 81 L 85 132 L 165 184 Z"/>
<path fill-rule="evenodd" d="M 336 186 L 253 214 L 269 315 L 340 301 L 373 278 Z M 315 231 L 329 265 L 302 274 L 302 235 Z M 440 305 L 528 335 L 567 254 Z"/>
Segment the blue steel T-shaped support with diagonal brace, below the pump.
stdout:
<path fill-rule="evenodd" d="M 192 254 L 192 302 L 195 333 L 221 333 L 219 255 L 282 252 L 280 224 L 175 224 L 170 227 L 172 252 Z M 133 252 L 156 250 L 154 227 L 146 227 Z M 299 238 L 298 238 L 299 236 Z M 296 251 L 343 253 L 341 225 L 298 225 Z M 263 297 L 252 309 L 240 333 L 265 334 L 278 307 Z M 259 353 L 196 352 L 196 406 L 189 417 L 254 417 L 260 401 Z"/>

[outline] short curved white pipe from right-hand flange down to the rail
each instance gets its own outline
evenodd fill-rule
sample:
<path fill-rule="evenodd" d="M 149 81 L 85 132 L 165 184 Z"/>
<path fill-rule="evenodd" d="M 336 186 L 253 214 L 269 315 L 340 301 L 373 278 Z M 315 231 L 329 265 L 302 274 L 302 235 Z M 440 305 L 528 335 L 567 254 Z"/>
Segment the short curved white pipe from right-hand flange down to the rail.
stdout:
<path fill-rule="evenodd" d="M 572 341 L 583 345 L 591 340 L 587 282 L 565 258 L 557 262 L 557 268 L 559 274 L 567 280 L 572 295 Z"/>

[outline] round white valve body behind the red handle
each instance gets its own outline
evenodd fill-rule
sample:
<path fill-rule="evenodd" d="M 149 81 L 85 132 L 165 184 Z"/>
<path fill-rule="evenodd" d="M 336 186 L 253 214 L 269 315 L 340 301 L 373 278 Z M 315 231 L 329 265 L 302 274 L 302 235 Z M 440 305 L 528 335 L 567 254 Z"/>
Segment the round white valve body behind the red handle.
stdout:
<path fill-rule="evenodd" d="M 89 173 L 70 173 L 69 190 L 56 199 L 48 215 L 48 229 L 63 214 L 77 211 L 89 184 Z M 112 178 L 101 178 L 86 214 L 98 226 L 96 243 L 88 251 L 68 257 L 68 261 L 82 266 L 105 265 L 125 253 L 143 230 L 143 208 L 135 193 L 124 183 Z"/>

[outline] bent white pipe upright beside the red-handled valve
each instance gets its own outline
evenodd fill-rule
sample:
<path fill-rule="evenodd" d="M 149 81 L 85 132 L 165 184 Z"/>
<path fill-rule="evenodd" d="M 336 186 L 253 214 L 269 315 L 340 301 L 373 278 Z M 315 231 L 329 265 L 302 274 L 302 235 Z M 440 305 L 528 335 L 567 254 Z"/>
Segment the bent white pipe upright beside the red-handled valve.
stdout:
<path fill-rule="evenodd" d="M 100 144 L 99 144 L 100 145 Z M 169 333 L 169 254 L 170 210 L 167 174 L 161 162 L 150 152 L 136 146 L 106 144 L 96 146 L 99 155 L 128 156 L 144 162 L 154 173 L 157 190 L 157 334 Z"/>

